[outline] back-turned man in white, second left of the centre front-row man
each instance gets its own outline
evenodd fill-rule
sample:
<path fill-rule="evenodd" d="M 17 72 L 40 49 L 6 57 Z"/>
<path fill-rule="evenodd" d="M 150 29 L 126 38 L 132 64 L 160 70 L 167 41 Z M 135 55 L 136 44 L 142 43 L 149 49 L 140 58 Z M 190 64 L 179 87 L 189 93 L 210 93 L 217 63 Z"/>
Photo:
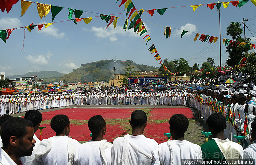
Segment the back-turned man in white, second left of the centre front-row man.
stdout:
<path fill-rule="evenodd" d="M 33 165 L 73 165 L 78 141 L 68 137 L 70 122 L 66 115 L 56 115 L 51 120 L 56 136 L 43 139 L 35 152 Z"/>

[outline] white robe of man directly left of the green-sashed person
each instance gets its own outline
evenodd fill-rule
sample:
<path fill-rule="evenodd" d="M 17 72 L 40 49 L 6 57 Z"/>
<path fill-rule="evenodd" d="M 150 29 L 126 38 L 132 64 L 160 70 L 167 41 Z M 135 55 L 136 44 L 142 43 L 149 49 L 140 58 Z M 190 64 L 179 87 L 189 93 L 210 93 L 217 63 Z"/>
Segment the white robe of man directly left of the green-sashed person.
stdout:
<path fill-rule="evenodd" d="M 201 147 L 189 141 L 171 140 L 158 145 L 161 165 L 181 165 L 181 159 L 201 159 Z"/>

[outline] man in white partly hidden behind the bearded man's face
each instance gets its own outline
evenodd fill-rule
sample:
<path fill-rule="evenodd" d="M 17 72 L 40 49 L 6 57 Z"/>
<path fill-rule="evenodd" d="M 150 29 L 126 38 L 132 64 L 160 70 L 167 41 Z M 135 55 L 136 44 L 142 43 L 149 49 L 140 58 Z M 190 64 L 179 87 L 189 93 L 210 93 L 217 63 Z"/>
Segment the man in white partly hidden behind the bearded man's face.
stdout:
<path fill-rule="evenodd" d="M 35 133 L 35 132 L 37 132 L 37 130 L 38 130 L 40 124 L 41 124 L 43 116 L 42 116 L 41 112 L 39 112 L 38 110 L 30 110 L 30 111 L 26 112 L 26 114 L 24 116 L 24 119 L 27 119 L 27 120 L 32 122 L 33 127 L 34 127 L 34 133 Z M 31 165 L 32 164 L 33 160 L 35 159 L 35 154 L 34 153 L 37 152 L 37 148 L 38 148 L 38 146 L 41 142 L 38 139 L 38 137 L 35 136 L 35 134 L 34 134 L 33 138 L 36 142 L 35 146 L 33 148 L 34 150 L 32 152 L 32 155 L 25 157 L 26 158 L 25 165 Z"/>

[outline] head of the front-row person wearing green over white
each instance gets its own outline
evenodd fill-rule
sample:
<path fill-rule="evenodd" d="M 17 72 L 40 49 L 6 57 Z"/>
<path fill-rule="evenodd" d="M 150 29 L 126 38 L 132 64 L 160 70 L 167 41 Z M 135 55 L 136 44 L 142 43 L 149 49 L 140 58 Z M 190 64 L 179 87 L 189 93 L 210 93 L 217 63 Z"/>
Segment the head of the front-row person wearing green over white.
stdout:
<path fill-rule="evenodd" d="M 212 134 L 220 133 L 226 129 L 226 118 L 222 114 L 211 114 L 207 119 L 207 125 Z"/>

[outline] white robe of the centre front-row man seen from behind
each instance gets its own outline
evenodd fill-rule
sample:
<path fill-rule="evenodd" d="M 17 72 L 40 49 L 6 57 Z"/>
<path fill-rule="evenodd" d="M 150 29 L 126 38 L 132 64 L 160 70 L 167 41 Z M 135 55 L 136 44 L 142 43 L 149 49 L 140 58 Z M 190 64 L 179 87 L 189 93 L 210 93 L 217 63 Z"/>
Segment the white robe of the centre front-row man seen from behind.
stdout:
<path fill-rule="evenodd" d="M 112 165 L 158 165 L 158 146 L 154 139 L 144 135 L 125 135 L 113 142 Z"/>

